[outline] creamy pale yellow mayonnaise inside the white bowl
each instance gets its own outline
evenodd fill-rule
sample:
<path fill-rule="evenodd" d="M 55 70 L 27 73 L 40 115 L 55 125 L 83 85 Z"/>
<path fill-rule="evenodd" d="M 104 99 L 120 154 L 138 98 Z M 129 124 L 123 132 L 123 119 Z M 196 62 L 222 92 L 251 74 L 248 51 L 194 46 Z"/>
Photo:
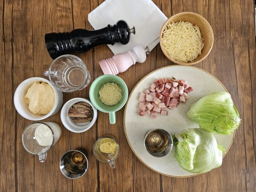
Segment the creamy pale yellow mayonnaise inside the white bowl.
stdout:
<path fill-rule="evenodd" d="M 25 102 L 33 114 L 48 114 L 55 103 L 55 94 L 52 87 L 45 82 L 35 82 L 25 95 Z"/>

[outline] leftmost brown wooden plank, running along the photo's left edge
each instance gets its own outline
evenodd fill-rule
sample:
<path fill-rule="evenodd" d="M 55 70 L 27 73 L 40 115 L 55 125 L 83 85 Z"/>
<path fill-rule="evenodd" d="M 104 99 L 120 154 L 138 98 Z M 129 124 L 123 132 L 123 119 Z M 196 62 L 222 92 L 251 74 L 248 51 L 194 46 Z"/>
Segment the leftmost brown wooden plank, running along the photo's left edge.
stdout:
<path fill-rule="evenodd" d="M 0 60 L 2 63 L 2 69 L 0 71 L 1 78 L 1 109 L 4 109 L 0 115 L 1 122 L 1 161 L 0 169 L 0 185 L 2 190 L 14 189 L 17 187 L 17 165 L 15 151 L 15 119 L 16 114 L 12 112 L 13 102 L 9 98 L 13 97 L 13 31 L 12 31 L 12 14 L 13 14 L 13 2 L 12 1 L 1 1 L 1 30 L 0 36 Z M 9 86 L 7 86 L 7 84 Z M 10 134 L 10 130 L 13 134 Z M 8 182 L 12 181 L 12 182 Z"/>

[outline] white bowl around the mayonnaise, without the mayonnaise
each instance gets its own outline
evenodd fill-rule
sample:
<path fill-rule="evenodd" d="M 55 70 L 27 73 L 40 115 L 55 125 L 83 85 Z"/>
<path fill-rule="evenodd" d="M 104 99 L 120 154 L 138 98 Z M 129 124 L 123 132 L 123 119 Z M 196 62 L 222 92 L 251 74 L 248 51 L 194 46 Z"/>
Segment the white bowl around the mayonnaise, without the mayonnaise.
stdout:
<path fill-rule="evenodd" d="M 28 104 L 24 100 L 24 96 L 26 95 L 28 89 L 31 87 L 31 85 L 34 82 L 48 83 L 53 88 L 53 91 L 55 93 L 55 103 L 54 103 L 53 109 L 46 115 L 33 114 L 28 109 Z M 22 81 L 19 84 L 19 86 L 17 87 L 17 89 L 14 93 L 13 102 L 14 102 L 14 106 L 15 106 L 16 110 L 22 117 L 32 120 L 32 121 L 39 121 L 39 120 L 45 119 L 47 117 L 53 116 L 60 110 L 61 105 L 63 103 L 63 95 L 62 95 L 62 92 L 57 90 L 53 86 L 53 84 L 50 81 L 48 81 L 47 79 L 41 78 L 41 77 L 31 77 L 31 78 L 26 79 L 25 81 Z"/>

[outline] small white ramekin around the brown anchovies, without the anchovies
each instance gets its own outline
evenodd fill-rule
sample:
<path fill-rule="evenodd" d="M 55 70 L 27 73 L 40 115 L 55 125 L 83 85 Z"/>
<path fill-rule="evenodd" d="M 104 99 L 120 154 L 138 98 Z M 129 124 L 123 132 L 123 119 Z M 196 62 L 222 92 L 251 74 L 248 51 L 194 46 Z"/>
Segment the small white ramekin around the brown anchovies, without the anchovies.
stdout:
<path fill-rule="evenodd" d="M 74 123 L 71 119 L 71 117 L 68 117 L 68 111 L 74 105 L 78 102 L 86 102 L 93 108 L 93 119 L 90 122 L 85 123 Z M 73 98 L 71 100 L 68 100 L 62 107 L 60 118 L 62 121 L 62 124 L 67 128 L 69 131 L 75 132 L 75 133 L 81 133 L 84 131 L 87 131 L 90 129 L 93 124 L 96 122 L 97 119 L 97 109 L 93 106 L 93 104 L 90 102 L 90 100 L 85 98 Z"/>

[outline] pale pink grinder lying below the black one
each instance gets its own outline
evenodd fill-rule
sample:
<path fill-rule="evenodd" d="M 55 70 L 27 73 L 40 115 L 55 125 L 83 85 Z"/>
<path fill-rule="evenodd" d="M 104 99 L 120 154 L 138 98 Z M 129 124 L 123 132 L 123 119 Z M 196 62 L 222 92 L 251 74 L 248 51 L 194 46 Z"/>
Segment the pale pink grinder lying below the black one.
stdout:
<path fill-rule="evenodd" d="M 103 73 L 117 75 L 126 71 L 136 62 L 143 63 L 146 61 L 146 52 L 141 45 L 135 45 L 133 50 L 126 53 L 119 53 L 111 58 L 99 61 Z"/>

